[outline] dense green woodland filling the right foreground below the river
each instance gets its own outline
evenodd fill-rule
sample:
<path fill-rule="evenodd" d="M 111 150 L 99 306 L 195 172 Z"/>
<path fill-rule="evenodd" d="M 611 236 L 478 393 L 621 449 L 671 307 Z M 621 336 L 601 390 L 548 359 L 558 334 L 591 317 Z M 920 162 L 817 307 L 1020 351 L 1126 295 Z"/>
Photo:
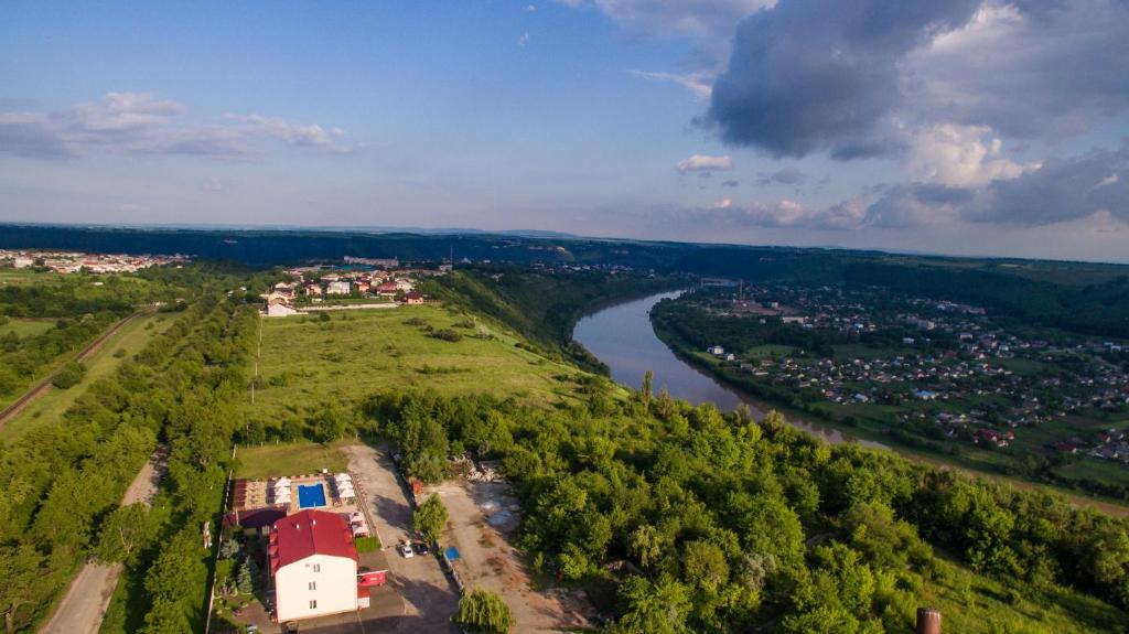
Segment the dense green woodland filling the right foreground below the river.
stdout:
<path fill-rule="evenodd" d="M 612 632 L 909 632 L 928 585 L 968 575 L 953 560 L 1010 588 L 1017 609 L 1074 588 L 1119 607 L 1060 606 L 1077 623 L 1129 623 L 1126 520 L 832 447 L 774 414 L 589 388 L 586 406 L 558 411 L 418 393 L 365 411 L 423 479 L 464 450 L 500 459 L 533 566 L 604 598 Z M 1021 620 L 1004 610 L 980 631 Z"/>

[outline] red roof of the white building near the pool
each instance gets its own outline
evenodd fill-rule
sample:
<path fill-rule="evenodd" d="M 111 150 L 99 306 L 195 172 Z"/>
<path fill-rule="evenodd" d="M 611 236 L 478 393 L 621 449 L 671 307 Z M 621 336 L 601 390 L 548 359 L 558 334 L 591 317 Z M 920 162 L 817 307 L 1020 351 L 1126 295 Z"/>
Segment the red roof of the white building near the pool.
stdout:
<path fill-rule="evenodd" d="M 338 513 L 308 509 L 283 518 L 271 528 L 271 573 L 313 555 L 357 561 L 352 530 Z"/>

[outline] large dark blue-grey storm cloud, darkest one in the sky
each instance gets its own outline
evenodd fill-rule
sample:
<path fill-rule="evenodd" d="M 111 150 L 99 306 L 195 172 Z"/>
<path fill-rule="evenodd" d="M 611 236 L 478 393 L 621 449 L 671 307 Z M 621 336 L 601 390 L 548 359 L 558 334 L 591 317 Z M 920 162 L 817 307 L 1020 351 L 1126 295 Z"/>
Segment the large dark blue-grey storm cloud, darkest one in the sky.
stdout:
<path fill-rule="evenodd" d="M 721 139 L 774 156 L 881 153 L 901 102 L 899 62 L 966 24 L 980 0 L 786 0 L 737 27 L 708 113 Z"/>

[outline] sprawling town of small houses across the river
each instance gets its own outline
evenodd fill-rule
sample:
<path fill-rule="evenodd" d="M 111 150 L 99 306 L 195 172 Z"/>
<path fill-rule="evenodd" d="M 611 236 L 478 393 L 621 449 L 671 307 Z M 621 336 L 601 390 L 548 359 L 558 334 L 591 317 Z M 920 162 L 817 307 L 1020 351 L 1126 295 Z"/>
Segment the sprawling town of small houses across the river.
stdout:
<path fill-rule="evenodd" d="M 874 289 L 734 283 L 673 303 L 659 319 L 697 327 L 719 368 L 816 413 L 996 449 L 1026 435 L 1024 450 L 1129 465 L 1123 342 Z"/>

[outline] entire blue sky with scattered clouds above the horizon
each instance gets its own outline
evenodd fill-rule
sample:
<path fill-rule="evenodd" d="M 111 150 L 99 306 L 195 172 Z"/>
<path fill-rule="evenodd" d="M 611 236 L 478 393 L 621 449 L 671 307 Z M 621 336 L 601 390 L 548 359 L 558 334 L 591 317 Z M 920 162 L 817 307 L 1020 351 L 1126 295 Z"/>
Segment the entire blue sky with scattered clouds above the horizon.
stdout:
<path fill-rule="evenodd" d="M 0 222 L 1129 263 L 1126 69 L 1127 0 L 9 0 Z"/>

